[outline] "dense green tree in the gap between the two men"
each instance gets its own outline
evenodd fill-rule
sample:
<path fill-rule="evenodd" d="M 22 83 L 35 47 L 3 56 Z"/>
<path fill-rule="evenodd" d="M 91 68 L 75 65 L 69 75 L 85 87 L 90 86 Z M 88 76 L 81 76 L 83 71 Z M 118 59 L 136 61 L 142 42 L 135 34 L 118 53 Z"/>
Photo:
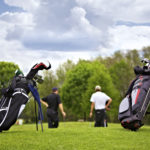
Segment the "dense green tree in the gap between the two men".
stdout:
<path fill-rule="evenodd" d="M 66 75 L 61 96 L 67 110 L 75 117 L 81 117 L 83 110 L 81 109 L 83 98 L 82 94 L 87 89 L 87 80 L 91 75 L 91 65 L 89 62 L 80 61 Z"/>

